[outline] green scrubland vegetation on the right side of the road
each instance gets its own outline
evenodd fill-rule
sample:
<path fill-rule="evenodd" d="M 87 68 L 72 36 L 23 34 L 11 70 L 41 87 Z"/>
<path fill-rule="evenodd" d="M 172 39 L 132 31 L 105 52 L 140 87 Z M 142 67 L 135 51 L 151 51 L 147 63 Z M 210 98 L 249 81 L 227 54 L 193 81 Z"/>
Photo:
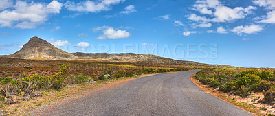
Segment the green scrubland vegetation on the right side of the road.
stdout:
<path fill-rule="evenodd" d="M 275 103 L 275 71 L 256 69 L 236 71 L 234 69 L 203 69 L 194 76 L 202 84 L 217 88 L 219 91 L 248 97 L 252 92 L 263 92 L 260 102 Z"/>

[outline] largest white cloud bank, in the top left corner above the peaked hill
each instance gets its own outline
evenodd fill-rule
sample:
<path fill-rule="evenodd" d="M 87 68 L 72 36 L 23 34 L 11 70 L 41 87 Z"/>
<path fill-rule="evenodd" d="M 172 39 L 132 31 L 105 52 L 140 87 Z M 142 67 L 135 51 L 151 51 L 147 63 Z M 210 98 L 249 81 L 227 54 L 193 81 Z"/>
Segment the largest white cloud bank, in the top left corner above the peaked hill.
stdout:
<path fill-rule="evenodd" d="M 47 21 L 50 14 L 59 14 L 62 5 L 55 0 L 49 4 L 17 1 L 15 5 L 6 5 L 9 10 L 0 12 L 0 27 L 35 28 Z"/>

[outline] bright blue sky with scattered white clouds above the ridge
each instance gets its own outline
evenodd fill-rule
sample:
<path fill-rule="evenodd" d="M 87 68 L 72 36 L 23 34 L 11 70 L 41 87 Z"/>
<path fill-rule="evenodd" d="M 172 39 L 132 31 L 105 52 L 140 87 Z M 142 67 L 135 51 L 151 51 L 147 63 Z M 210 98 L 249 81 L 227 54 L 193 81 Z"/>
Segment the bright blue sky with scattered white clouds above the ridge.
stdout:
<path fill-rule="evenodd" d="M 33 36 L 68 52 L 275 67 L 274 0 L 0 0 L 0 54 Z"/>

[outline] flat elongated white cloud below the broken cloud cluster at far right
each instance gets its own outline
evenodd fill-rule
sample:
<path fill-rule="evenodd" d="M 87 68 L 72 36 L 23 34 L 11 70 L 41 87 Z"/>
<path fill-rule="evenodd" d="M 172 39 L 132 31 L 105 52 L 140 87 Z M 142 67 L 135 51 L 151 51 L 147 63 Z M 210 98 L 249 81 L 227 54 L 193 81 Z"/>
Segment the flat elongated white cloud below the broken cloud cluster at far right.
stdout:
<path fill-rule="evenodd" d="M 244 27 L 243 25 L 241 25 L 238 27 L 234 27 L 234 29 L 232 29 L 231 31 L 236 32 L 237 34 L 253 34 L 256 32 L 261 32 L 261 30 L 263 30 L 263 27 L 261 25 L 245 25 Z"/>

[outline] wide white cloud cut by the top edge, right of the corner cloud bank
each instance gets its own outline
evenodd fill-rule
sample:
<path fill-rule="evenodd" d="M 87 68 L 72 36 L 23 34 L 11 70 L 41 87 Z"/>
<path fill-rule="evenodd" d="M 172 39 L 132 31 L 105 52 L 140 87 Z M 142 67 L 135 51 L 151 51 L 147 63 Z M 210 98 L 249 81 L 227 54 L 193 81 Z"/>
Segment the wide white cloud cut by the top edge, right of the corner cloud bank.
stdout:
<path fill-rule="evenodd" d="M 79 3 L 74 3 L 67 1 L 65 3 L 65 8 L 72 11 L 78 12 L 101 12 L 111 10 L 111 5 L 116 5 L 125 0 L 102 0 L 102 1 L 80 1 Z"/>

